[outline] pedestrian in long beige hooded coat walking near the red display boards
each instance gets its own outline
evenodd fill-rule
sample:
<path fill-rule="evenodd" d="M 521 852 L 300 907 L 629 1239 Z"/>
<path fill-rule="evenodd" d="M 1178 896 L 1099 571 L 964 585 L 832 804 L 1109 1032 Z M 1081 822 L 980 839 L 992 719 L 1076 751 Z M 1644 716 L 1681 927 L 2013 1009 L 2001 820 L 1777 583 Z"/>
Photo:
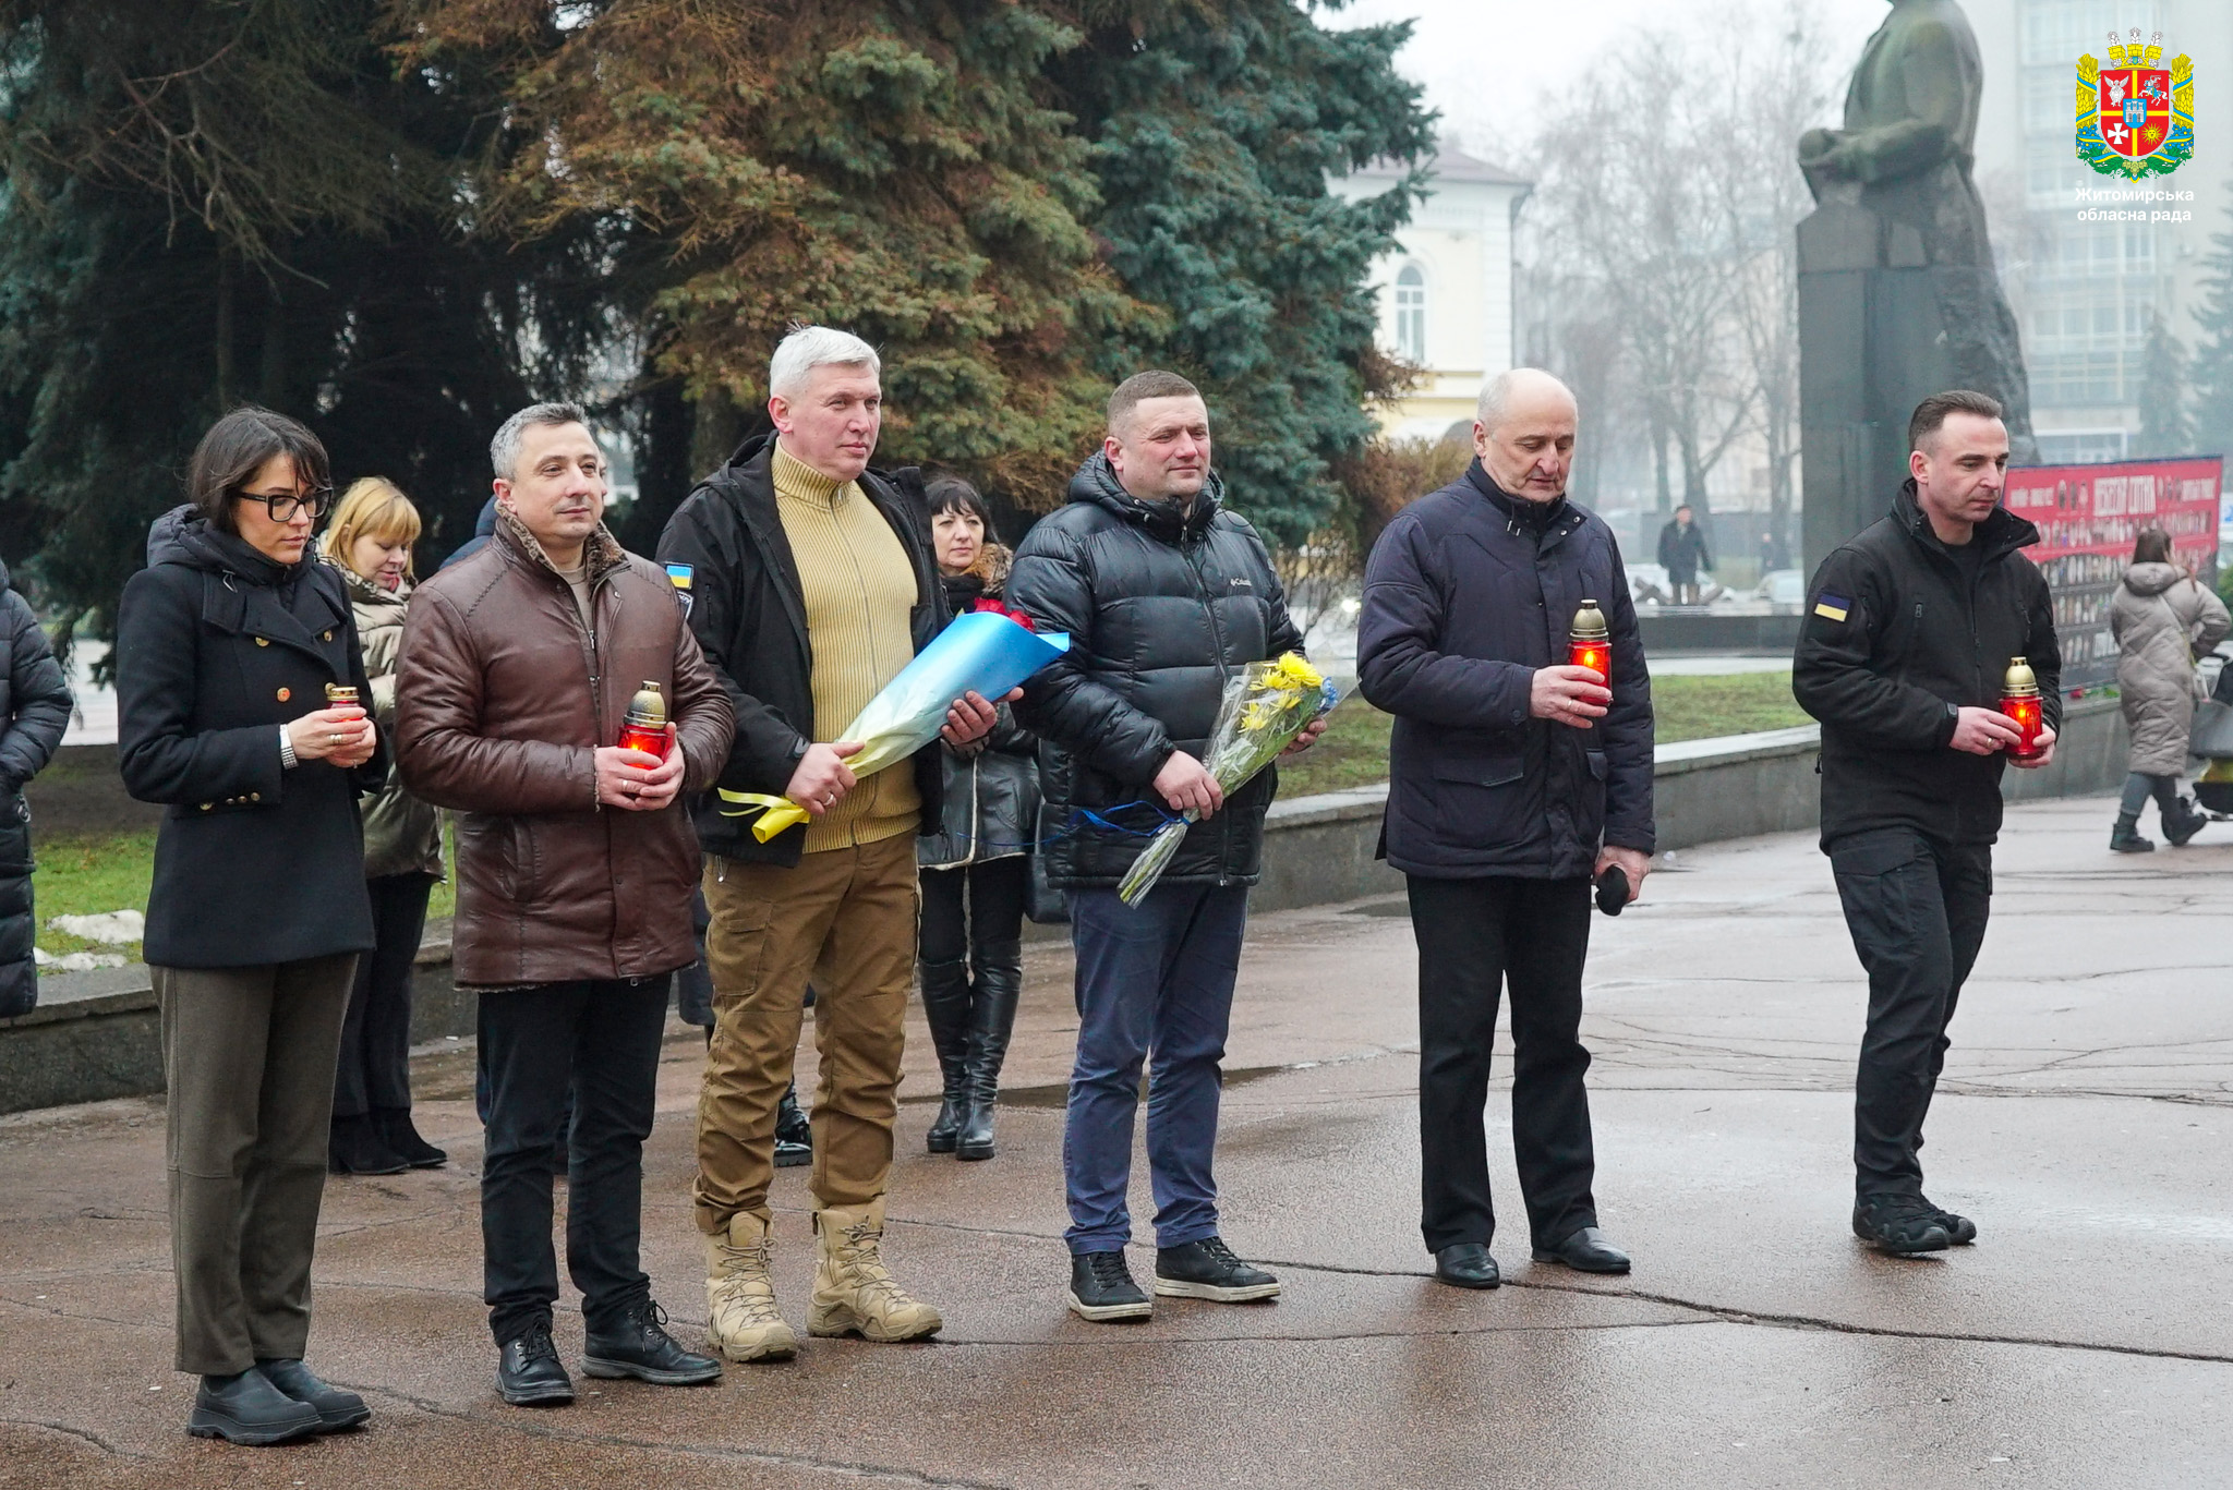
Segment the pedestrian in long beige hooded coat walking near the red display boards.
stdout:
<path fill-rule="evenodd" d="M 2133 563 L 2108 603 L 2108 632 L 2117 639 L 2117 704 L 2133 746 L 2130 775 L 2117 804 L 2108 847 L 2146 853 L 2155 840 L 2139 835 L 2139 813 L 2155 797 L 2170 847 L 2184 847 L 2208 822 L 2179 797 L 2186 775 L 2186 737 L 2195 726 L 2195 659 L 2226 639 L 2233 619 L 2224 601 L 2170 561 L 2170 534 L 2141 527 Z"/>

